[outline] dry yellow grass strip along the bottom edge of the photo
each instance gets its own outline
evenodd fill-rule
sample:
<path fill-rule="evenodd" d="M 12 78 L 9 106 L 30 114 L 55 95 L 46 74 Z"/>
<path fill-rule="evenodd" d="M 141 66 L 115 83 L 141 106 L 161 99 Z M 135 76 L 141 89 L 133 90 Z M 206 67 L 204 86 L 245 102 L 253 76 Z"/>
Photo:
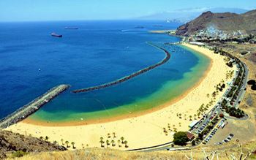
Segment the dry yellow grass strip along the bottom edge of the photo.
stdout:
<path fill-rule="evenodd" d="M 99 148 L 87 148 L 75 151 L 56 151 L 44 153 L 30 153 L 20 159 L 256 159 L 256 142 L 240 145 L 236 142 L 221 146 L 197 147 L 187 151 L 162 152 L 125 152 Z M 254 152 L 254 153 L 252 153 Z"/>

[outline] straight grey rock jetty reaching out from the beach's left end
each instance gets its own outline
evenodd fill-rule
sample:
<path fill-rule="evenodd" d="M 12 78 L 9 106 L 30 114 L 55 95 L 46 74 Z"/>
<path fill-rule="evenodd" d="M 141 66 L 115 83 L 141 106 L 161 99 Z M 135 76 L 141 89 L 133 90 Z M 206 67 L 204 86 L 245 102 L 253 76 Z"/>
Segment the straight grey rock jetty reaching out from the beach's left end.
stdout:
<path fill-rule="evenodd" d="M 37 97 L 37 99 L 34 99 L 32 102 L 29 102 L 29 104 L 20 107 L 20 109 L 16 110 L 14 113 L 2 118 L 0 121 L 0 129 L 5 129 L 18 121 L 22 121 L 23 119 L 27 118 L 29 115 L 39 110 L 39 108 L 44 104 L 47 104 L 50 102 L 50 100 L 67 90 L 67 88 L 69 88 L 69 85 L 58 85 L 51 88 L 45 94 L 42 94 L 42 96 Z"/>

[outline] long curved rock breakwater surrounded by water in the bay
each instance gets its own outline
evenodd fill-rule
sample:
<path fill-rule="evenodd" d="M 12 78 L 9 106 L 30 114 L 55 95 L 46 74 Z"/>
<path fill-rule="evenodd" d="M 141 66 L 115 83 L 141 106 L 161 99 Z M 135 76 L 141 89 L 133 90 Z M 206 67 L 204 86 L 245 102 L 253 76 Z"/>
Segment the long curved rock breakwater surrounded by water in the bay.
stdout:
<path fill-rule="evenodd" d="M 140 69 L 138 72 L 135 72 L 135 73 L 132 73 L 131 75 L 127 75 L 125 77 L 122 77 L 121 79 L 112 81 L 110 83 L 104 83 L 102 85 L 97 85 L 97 86 L 89 87 L 89 88 L 77 89 L 77 90 L 74 90 L 72 92 L 77 94 L 77 93 L 81 93 L 81 92 L 94 91 L 94 90 L 98 90 L 98 89 L 101 89 L 101 88 L 107 88 L 107 87 L 110 87 L 110 86 L 113 86 L 113 85 L 118 85 L 119 83 L 124 83 L 125 81 L 130 80 L 133 77 L 137 77 L 138 75 L 141 75 L 141 74 L 143 74 L 145 72 L 148 72 L 151 69 L 157 68 L 157 66 L 161 66 L 162 64 L 165 64 L 167 61 L 169 61 L 170 53 L 167 50 L 165 50 L 165 48 L 159 47 L 159 46 L 154 45 L 154 44 L 149 43 L 149 42 L 148 42 L 148 44 L 152 45 L 154 47 L 157 47 L 160 50 L 163 50 L 165 52 L 165 58 L 162 59 L 162 61 L 159 61 L 157 64 L 153 64 L 153 65 L 148 66 L 148 67 L 146 67 L 144 69 Z"/>

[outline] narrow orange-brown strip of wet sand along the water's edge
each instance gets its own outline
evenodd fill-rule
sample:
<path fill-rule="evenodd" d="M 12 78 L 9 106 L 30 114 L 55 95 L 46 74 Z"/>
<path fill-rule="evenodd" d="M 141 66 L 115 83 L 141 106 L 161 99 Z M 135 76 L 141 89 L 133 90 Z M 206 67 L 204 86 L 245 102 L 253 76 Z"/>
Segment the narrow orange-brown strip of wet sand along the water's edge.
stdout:
<path fill-rule="evenodd" d="M 182 46 L 187 47 L 185 45 L 182 45 Z M 189 49 L 192 49 L 192 48 L 189 48 Z M 123 120 L 123 119 L 127 119 L 127 118 L 136 118 L 136 117 L 139 117 L 141 115 L 147 115 L 149 113 L 154 113 L 158 110 L 162 110 L 163 108 L 169 107 L 171 104 L 174 104 L 174 103 L 178 102 L 179 100 L 184 99 L 185 96 L 187 96 L 191 91 L 193 91 L 195 88 L 197 88 L 198 85 L 200 85 L 200 83 L 208 75 L 208 72 L 211 70 L 212 63 L 213 63 L 212 58 L 209 57 L 208 55 L 204 54 L 204 53 L 198 52 L 197 50 L 194 50 L 194 51 L 196 53 L 203 54 L 204 56 L 206 56 L 207 58 L 210 59 L 210 63 L 208 64 L 207 69 L 203 73 L 203 76 L 200 77 L 199 80 L 197 80 L 197 83 L 195 83 L 195 85 L 192 85 L 191 87 L 189 87 L 181 95 L 171 99 L 170 101 L 167 101 L 163 104 L 160 104 L 159 106 L 152 107 L 150 110 L 142 110 L 142 111 L 138 111 L 136 113 L 129 113 L 129 114 L 127 113 L 127 114 L 124 114 L 124 115 L 117 115 L 117 116 L 113 116 L 113 117 L 110 117 L 110 118 L 98 118 L 97 120 L 92 119 L 92 120 L 69 121 L 69 122 L 47 122 L 47 121 L 34 121 L 34 120 L 31 120 L 30 118 L 26 118 L 22 122 L 33 124 L 33 125 L 38 125 L 38 126 L 83 126 L 83 125 L 90 125 L 90 124 L 97 124 L 97 123 L 108 123 L 108 122 L 119 121 L 119 120 Z"/>

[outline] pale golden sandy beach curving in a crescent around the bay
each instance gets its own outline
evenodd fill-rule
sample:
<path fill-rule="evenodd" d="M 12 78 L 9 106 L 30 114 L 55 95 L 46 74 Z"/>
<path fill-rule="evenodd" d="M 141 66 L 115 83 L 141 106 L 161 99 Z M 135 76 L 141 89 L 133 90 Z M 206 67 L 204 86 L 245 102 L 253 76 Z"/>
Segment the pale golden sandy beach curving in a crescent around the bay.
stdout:
<path fill-rule="evenodd" d="M 108 120 L 92 121 L 91 123 L 81 121 L 76 124 L 67 123 L 67 126 L 57 126 L 57 123 L 56 126 L 52 126 L 51 123 L 51 126 L 48 126 L 43 123 L 31 124 L 29 120 L 25 120 L 10 126 L 7 130 L 19 132 L 20 134 L 31 134 L 35 137 L 48 136 L 50 141 L 56 140 L 59 144 L 61 144 L 61 139 L 64 139 L 64 141 L 68 140 L 69 142 L 75 142 L 77 148 L 86 147 L 86 144 L 89 147 L 100 147 L 99 137 L 104 137 L 104 140 L 107 140 L 108 133 L 110 133 L 108 140 L 114 140 L 116 144 L 120 137 L 124 137 L 128 141 L 128 149 L 170 142 L 172 134 L 165 135 L 163 128 L 167 129 L 169 123 L 172 130 L 173 128 L 178 129 L 178 131 L 189 129 L 188 125 L 191 123 L 189 115 L 193 116 L 201 104 L 207 104 L 210 101 L 210 98 L 206 95 L 215 91 L 214 85 L 225 80 L 226 72 L 231 70 L 225 64 L 223 56 L 214 54 L 211 50 L 203 47 L 187 44 L 184 46 L 211 58 L 211 65 L 197 84 L 171 102 L 155 107 L 146 113 L 136 113 Z M 222 91 L 222 93 L 217 95 L 217 100 L 224 93 L 225 91 Z M 182 114 L 181 118 L 177 117 L 178 113 Z M 185 114 L 187 118 L 184 118 Z M 113 137 L 113 132 L 116 133 L 116 137 Z M 118 148 L 118 145 L 110 148 L 127 149 L 124 148 L 124 145 L 121 148 Z"/>

